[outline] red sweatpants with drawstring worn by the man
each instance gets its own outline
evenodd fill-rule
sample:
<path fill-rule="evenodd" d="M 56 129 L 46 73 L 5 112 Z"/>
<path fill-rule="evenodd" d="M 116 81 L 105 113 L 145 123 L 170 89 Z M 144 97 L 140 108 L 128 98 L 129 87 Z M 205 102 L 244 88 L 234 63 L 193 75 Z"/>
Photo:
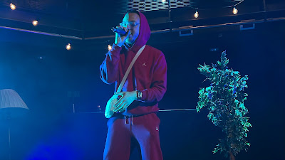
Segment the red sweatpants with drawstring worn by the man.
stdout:
<path fill-rule="evenodd" d="M 143 160 L 162 160 L 159 125 L 156 113 L 139 117 L 111 117 L 108 120 L 104 160 L 128 160 L 132 138 L 140 144 Z"/>

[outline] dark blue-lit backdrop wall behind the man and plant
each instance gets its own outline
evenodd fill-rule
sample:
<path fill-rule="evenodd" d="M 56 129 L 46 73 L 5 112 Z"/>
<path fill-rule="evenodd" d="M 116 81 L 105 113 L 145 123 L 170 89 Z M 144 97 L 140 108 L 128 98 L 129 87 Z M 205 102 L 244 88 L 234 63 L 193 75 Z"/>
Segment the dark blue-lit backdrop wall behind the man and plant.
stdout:
<path fill-rule="evenodd" d="M 146 14 L 152 18 L 150 12 Z M 113 25 L 123 17 L 116 16 L 120 18 L 114 19 Z M 160 109 L 195 108 L 199 87 L 209 85 L 202 82 L 204 75 L 197 67 L 216 63 L 227 50 L 229 67 L 249 76 L 245 105 L 253 126 L 247 139 L 251 146 L 236 159 L 285 159 L 284 28 L 285 21 L 268 21 L 247 31 L 224 26 L 195 30 L 194 35 L 185 37 L 177 32 L 152 34 L 147 44 L 162 50 L 168 68 L 167 92 Z M 112 35 L 110 31 L 102 34 Z M 113 38 L 72 40 L 72 50 L 66 50 L 69 42 L 67 38 L 0 28 L 0 89 L 16 90 L 30 109 L 24 117 L 10 121 L 1 117 L 1 160 L 9 159 L 8 127 L 12 159 L 103 159 L 107 119 L 103 112 L 95 112 L 98 105 L 103 111 L 113 95 L 114 86 L 99 77 L 99 65 Z M 68 92 L 79 92 L 79 97 L 70 97 Z M 199 113 L 158 113 L 166 160 L 227 159 L 212 154 L 223 134 L 207 119 L 207 113 L 206 108 Z M 131 158 L 138 159 L 138 154 Z"/>

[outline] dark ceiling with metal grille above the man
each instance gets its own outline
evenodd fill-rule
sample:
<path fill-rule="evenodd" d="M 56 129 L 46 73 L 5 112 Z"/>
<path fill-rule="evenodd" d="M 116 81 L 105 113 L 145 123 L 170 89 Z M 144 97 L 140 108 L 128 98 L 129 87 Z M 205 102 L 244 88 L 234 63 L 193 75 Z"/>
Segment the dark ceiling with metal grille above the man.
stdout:
<path fill-rule="evenodd" d="M 9 8 L 10 2 L 16 4 L 16 10 Z M 232 14 L 234 5 L 239 10 L 237 15 Z M 157 33 L 285 18 L 284 0 L 1 0 L 0 28 L 79 40 L 108 38 L 113 35 L 110 28 L 128 9 L 142 11 Z M 196 9 L 199 18 L 193 16 Z M 38 26 L 31 25 L 35 19 Z"/>

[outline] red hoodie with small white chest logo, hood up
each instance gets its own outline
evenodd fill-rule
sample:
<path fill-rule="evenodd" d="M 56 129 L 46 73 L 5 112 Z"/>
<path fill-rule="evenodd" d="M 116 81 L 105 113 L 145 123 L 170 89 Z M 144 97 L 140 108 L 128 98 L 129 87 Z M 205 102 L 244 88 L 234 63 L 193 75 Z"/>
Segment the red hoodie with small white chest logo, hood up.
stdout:
<path fill-rule="evenodd" d="M 113 44 L 112 49 L 106 54 L 100 65 L 100 78 L 107 84 L 115 82 L 115 92 L 135 54 L 149 38 L 150 26 L 145 16 L 140 13 L 140 33 L 134 45 L 128 49 Z M 142 99 L 135 100 L 122 114 L 141 115 L 158 112 L 158 102 L 166 92 L 166 72 L 165 55 L 156 48 L 145 46 L 123 86 L 123 92 L 142 91 Z"/>

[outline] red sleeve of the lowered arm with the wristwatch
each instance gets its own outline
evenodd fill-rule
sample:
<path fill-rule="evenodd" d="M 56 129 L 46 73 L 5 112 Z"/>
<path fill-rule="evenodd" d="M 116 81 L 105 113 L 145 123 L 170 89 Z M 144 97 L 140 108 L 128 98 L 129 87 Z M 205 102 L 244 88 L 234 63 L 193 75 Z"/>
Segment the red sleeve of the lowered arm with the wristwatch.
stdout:
<path fill-rule="evenodd" d="M 150 88 L 142 90 L 142 102 L 159 102 L 166 92 L 167 65 L 163 53 L 157 59 Z"/>

